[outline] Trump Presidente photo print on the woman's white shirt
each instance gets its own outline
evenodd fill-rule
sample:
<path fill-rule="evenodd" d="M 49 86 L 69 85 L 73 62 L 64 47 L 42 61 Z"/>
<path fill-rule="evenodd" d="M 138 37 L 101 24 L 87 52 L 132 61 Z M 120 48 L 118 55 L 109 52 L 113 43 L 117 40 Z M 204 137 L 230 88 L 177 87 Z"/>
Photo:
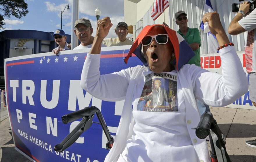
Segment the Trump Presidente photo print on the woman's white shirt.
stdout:
<path fill-rule="evenodd" d="M 154 75 L 152 77 L 152 75 Z M 148 74 L 145 78 L 137 110 L 140 111 L 178 111 L 177 75 L 167 73 Z"/>

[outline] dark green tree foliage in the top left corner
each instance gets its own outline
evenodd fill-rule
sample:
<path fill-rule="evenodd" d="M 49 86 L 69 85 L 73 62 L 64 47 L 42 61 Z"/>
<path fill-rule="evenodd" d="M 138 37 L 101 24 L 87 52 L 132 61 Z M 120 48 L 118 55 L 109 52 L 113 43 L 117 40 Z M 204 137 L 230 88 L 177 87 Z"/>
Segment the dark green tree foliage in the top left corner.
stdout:
<path fill-rule="evenodd" d="M 4 29 L 4 17 L 14 16 L 20 19 L 29 13 L 27 8 L 25 0 L 0 0 L 0 29 Z"/>

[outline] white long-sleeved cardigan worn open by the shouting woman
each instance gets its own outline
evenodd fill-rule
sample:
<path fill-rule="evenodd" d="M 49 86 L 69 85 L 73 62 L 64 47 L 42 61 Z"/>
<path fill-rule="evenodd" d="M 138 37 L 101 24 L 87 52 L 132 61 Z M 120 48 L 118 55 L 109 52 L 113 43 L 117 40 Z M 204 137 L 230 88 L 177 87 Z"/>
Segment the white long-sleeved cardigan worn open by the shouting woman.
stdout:
<path fill-rule="evenodd" d="M 178 72 L 178 80 L 186 106 L 186 125 L 191 142 L 198 158 L 209 161 L 205 140 L 196 137 L 195 130 L 200 116 L 195 99 L 214 107 L 222 107 L 234 102 L 248 91 L 248 81 L 243 67 L 233 47 L 220 50 L 222 74 L 212 73 L 195 65 L 184 65 Z M 81 87 L 96 98 L 105 101 L 125 99 L 115 142 L 105 161 L 116 161 L 125 148 L 126 140 L 133 133 L 134 119 L 132 102 L 134 88 L 144 79 L 143 72 L 150 70 L 145 66 L 131 67 L 120 72 L 100 75 L 100 54 L 88 54 L 82 74 Z"/>

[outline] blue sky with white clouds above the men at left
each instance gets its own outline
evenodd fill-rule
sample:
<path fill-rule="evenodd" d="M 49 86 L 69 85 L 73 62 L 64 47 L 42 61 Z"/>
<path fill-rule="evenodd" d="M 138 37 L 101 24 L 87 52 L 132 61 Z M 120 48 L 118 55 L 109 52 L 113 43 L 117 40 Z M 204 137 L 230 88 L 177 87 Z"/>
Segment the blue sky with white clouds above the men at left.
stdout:
<path fill-rule="evenodd" d="M 16 17 L 5 17 L 6 29 L 23 29 L 23 30 L 38 30 L 51 32 L 60 29 L 61 24 L 61 10 L 69 4 L 70 10 L 67 8 L 62 15 L 62 24 L 65 25 L 62 29 L 66 34 L 71 34 L 71 13 L 72 0 L 26 0 L 28 3 L 29 13 L 22 19 Z M 96 8 L 101 10 L 101 18 L 109 16 L 113 23 L 112 30 L 109 32 L 109 37 L 116 37 L 113 28 L 118 22 L 124 21 L 124 1 L 123 0 L 79 0 L 79 18 L 90 19 L 94 29 L 93 35 L 96 32 L 96 17 L 94 10 Z M 128 24 L 131 25 L 131 24 Z"/>

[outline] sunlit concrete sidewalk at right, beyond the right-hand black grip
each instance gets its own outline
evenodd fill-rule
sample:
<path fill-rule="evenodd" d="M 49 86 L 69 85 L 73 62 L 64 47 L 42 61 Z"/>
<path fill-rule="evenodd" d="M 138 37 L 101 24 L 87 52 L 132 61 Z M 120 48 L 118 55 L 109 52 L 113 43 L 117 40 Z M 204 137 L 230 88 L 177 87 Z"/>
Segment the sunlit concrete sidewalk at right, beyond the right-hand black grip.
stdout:
<path fill-rule="evenodd" d="M 226 149 L 233 162 L 255 162 L 256 148 L 245 144 L 256 139 L 256 110 L 239 108 L 213 108 L 211 113 L 224 136 Z"/>

